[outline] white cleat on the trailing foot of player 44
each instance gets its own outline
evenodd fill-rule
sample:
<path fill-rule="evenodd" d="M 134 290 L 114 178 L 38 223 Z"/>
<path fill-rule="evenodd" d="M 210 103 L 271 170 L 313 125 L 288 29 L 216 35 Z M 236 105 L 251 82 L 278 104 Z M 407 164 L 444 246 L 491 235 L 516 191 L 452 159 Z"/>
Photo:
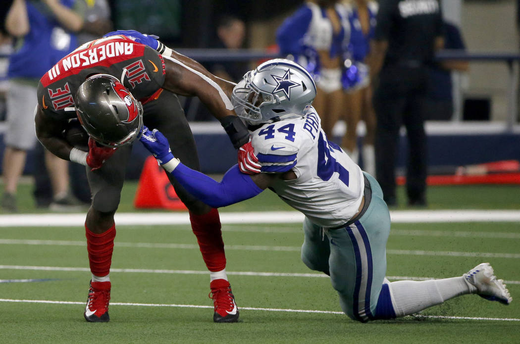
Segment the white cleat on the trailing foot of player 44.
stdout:
<path fill-rule="evenodd" d="M 509 305 L 513 298 L 505 287 L 503 280 L 497 280 L 493 273 L 493 268 L 489 263 L 478 264 L 476 267 L 462 275 L 470 289 L 486 300 L 498 301 L 504 305 Z M 473 288 L 472 288 L 473 286 Z"/>

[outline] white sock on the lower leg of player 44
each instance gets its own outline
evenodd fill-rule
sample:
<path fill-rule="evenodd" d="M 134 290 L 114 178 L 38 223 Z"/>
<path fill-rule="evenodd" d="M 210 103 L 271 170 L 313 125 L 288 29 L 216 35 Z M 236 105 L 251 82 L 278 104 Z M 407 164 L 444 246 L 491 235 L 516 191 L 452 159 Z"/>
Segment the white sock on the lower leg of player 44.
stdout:
<path fill-rule="evenodd" d="M 443 280 L 396 281 L 389 283 L 395 314 L 405 316 L 439 305 L 453 297 L 470 294 L 464 277 Z"/>

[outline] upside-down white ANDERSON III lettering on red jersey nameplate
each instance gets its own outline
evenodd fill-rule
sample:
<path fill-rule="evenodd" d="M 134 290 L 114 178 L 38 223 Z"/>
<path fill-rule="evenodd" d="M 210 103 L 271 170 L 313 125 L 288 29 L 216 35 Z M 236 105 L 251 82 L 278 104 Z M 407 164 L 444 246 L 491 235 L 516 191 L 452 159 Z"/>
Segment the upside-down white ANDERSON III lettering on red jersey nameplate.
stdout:
<path fill-rule="evenodd" d="M 68 71 L 71 68 L 80 67 L 80 65 L 86 67 L 110 57 L 132 55 L 133 52 L 134 44 L 131 42 L 111 42 L 67 56 L 61 60 L 61 67 L 64 71 Z M 53 80 L 60 73 L 60 63 L 58 63 L 48 71 L 49 79 Z"/>

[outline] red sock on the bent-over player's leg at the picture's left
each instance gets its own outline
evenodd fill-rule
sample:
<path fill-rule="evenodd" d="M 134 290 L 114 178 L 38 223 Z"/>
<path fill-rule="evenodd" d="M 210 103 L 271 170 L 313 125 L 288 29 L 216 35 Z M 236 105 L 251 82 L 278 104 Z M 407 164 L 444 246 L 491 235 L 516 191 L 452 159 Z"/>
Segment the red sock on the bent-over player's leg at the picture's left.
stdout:
<path fill-rule="evenodd" d="M 114 249 L 115 223 L 105 233 L 95 234 L 85 224 L 90 271 L 96 276 L 106 276 L 110 272 Z"/>

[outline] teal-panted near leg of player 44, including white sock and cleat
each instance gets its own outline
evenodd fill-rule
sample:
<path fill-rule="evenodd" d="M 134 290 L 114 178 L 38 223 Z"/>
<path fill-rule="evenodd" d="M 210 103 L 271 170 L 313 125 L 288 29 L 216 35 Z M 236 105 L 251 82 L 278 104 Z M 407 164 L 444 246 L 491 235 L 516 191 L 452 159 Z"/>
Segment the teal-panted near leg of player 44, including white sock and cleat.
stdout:
<path fill-rule="evenodd" d="M 428 281 L 385 279 L 386 241 L 390 229 L 388 208 L 379 184 L 367 175 L 372 200 L 365 215 L 352 225 L 326 231 L 331 255 L 331 281 L 341 307 L 354 320 L 392 319 L 419 312 L 465 294 L 509 305 L 509 290 L 488 263 L 458 277 Z"/>

